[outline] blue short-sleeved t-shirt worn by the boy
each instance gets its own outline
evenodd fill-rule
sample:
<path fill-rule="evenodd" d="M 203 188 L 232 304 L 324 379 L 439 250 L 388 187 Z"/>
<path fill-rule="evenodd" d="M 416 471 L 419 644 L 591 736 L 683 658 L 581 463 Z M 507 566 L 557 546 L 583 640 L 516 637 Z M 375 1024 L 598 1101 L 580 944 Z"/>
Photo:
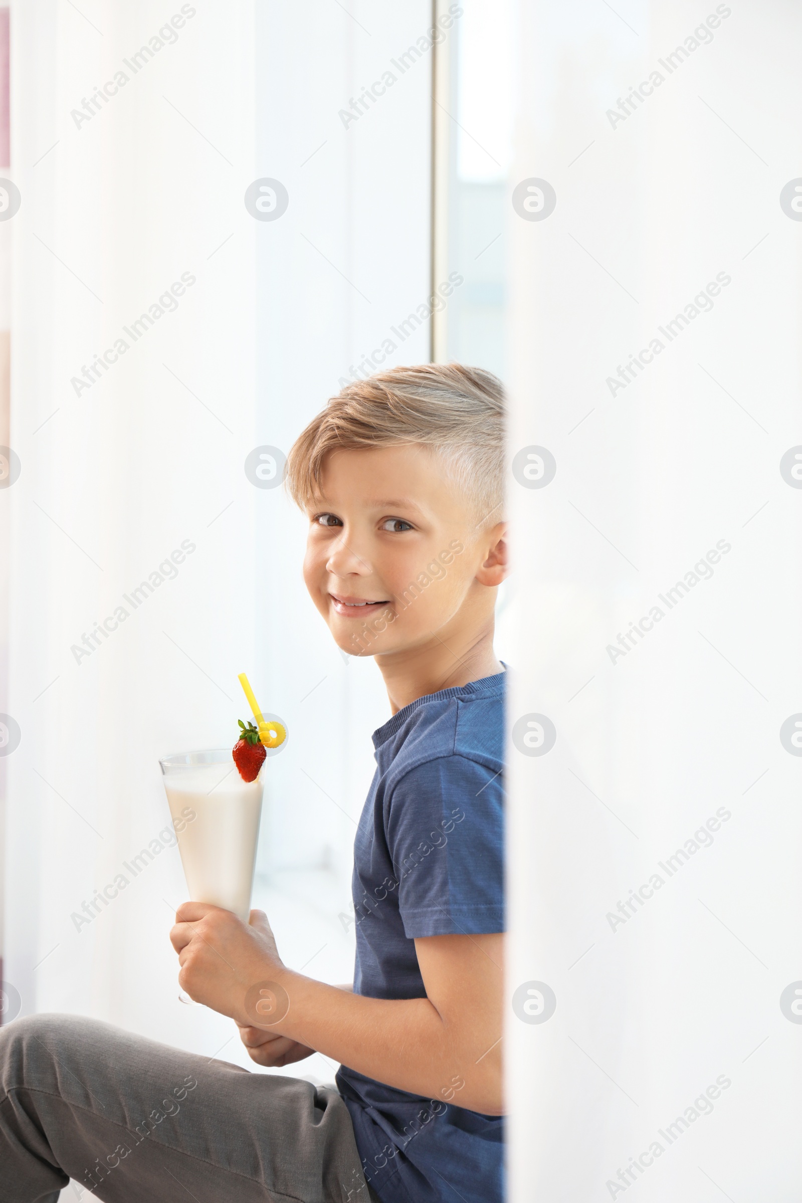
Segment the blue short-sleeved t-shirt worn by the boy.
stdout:
<path fill-rule="evenodd" d="M 414 941 L 504 930 L 504 677 L 418 698 L 374 733 L 354 845 L 356 973 L 370 998 L 424 998 Z M 468 1005 L 468 1000 L 467 1000 Z M 499 1115 L 337 1074 L 382 1203 L 500 1203 Z"/>

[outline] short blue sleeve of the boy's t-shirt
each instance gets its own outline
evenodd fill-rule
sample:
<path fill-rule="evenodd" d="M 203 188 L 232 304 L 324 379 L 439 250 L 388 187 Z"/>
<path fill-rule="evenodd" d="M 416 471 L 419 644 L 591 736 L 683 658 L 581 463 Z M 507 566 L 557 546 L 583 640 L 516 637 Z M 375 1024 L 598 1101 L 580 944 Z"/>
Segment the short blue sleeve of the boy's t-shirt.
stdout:
<path fill-rule="evenodd" d="M 503 776 L 462 755 L 394 786 L 387 843 L 408 940 L 504 931 Z"/>

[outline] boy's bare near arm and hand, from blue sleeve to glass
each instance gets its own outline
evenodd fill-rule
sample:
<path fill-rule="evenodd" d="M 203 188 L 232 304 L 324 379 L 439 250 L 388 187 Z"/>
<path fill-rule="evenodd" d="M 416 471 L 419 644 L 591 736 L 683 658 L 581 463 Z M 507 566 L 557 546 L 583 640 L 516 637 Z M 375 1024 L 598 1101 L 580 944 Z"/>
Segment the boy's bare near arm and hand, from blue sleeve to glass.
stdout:
<path fill-rule="evenodd" d="M 249 926 L 228 911 L 185 902 L 177 919 L 180 985 L 198 1002 L 399 1090 L 501 1114 L 500 934 L 416 940 L 427 997 L 384 1000 L 287 970 L 261 911 Z M 260 1008 L 262 1015 L 253 1009 L 260 988 L 274 1008 Z"/>

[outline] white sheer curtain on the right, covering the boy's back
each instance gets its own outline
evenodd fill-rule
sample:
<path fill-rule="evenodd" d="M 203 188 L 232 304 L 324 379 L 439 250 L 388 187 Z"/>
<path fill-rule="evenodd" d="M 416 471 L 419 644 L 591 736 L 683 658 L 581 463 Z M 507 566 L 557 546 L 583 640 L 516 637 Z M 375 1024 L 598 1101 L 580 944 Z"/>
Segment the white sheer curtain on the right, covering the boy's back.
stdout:
<path fill-rule="evenodd" d="M 510 1197 L 790 1203 L 801 14 L 517 19 Z"/>

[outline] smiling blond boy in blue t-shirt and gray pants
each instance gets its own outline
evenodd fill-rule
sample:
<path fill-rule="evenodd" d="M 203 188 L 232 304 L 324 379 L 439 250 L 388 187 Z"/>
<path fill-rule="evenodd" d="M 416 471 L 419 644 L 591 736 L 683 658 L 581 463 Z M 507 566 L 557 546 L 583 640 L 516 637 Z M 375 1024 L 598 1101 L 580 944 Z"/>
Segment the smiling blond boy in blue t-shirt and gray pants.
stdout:
<path fill-rule="evenodd" d="M 354 984 L 286 968 L 260 911 L 185 902 L 171 931 L 182 988 L 254 1061 L 320 1051 L 339 1092 L 93 1020 L 17 1020 L 7 1203 L 55 1201 L 67 1175 L 109 1201 L 500 1201 L 503 423 L 489 373 L 396 368 L 332 398 L 287 460 L 307 587 L 339 647 L 375 657 L 393 715 L 355 842 Z"/>

